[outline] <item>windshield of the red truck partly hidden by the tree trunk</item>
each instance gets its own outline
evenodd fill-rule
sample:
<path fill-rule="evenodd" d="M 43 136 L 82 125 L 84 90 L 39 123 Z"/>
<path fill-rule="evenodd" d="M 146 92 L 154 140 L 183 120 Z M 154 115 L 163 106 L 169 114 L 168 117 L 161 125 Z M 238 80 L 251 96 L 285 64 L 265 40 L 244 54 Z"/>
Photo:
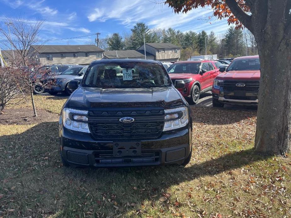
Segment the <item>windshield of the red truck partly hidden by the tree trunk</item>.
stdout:
<path fill-rule="evenodd" d="M 242 58 L 233 60 L 226 71 L 230 70 L 260 70 L 259 58 Z"/>

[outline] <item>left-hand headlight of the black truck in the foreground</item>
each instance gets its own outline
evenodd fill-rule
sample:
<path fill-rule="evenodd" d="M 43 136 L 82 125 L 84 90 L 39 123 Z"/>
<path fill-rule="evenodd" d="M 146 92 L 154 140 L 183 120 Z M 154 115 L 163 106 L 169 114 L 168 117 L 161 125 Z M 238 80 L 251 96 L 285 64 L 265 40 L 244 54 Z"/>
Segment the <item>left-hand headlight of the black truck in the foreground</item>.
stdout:
<path fill-rule="evenodd" d="M 86 122 L 88 120 L 88 117 L 86 117 L 87 114 L 88 111 L 64 108 L 63 109 L 64 127 L 78 132 L 90 133 L 88 123 L 84 123 L 84 121 Z"/>

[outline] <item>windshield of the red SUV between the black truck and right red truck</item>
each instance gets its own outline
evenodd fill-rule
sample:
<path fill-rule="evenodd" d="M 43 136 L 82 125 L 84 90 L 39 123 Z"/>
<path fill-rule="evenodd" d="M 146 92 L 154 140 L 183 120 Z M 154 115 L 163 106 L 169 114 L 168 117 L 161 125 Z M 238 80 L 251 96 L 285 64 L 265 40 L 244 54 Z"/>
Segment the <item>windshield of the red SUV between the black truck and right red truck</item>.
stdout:
<path fill-rule="evenodd" d="M 174 63 L 168 69 L 169 74 L 198 74 L 200 70 L 199 63 Z"/>

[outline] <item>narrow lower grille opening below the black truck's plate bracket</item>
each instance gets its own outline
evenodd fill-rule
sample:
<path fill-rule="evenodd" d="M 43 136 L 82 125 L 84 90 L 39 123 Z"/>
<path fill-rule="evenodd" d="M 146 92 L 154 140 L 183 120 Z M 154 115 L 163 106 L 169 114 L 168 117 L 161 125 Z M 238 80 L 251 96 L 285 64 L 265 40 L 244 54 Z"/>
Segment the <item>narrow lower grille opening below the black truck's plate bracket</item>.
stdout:
<path fill-rule="evenodd" d="M 154 163 L 159 161 L 159 152 L 144 152 L 141 156 L 115 157 L 112 151 L 99 151 L 94 153 L 97 164 L 114 163 Z"/>

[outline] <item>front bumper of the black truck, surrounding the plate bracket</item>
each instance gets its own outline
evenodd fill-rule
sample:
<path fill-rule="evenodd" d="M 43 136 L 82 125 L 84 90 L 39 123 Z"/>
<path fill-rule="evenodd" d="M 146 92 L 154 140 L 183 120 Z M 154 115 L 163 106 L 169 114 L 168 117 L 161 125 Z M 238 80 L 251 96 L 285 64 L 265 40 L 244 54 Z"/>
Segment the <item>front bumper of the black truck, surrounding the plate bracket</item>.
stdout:
<path fill-rule="evenodd" d="M 90 134 L 60 129 L 60 150 L 72 166 L 125 167 L 182 164 L 192 150 L 192 134 L 188 127 L 163 133 L 158 139 L 141 140 L 141 155 L 113 156 L 113 141 L 95 141 Z"/>

